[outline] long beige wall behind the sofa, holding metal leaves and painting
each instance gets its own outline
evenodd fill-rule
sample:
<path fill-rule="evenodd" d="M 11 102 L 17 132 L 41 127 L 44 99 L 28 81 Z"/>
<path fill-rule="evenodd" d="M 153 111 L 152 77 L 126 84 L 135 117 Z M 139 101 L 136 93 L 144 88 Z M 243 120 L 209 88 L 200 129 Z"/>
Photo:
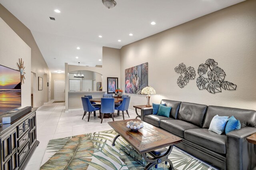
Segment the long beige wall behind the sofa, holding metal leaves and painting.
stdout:
<path fill-rule="evenodd" d="M 247 0 L 197 18 L 121 48 L 121 89 L 124 70 L 148 62 L 148 85 L 161 99 L 238 107 L 256 110 L 256 1 Z M 206 59 L 214 59 L 224 69 L 226 80 L 236 91 L 210 94 L 200 91 L 196 79 L 180 88 L 174 67 L 184 63 L 196 70 Z M 146 104 L 145 95 L 130 95 L 132 105 Z"/>

